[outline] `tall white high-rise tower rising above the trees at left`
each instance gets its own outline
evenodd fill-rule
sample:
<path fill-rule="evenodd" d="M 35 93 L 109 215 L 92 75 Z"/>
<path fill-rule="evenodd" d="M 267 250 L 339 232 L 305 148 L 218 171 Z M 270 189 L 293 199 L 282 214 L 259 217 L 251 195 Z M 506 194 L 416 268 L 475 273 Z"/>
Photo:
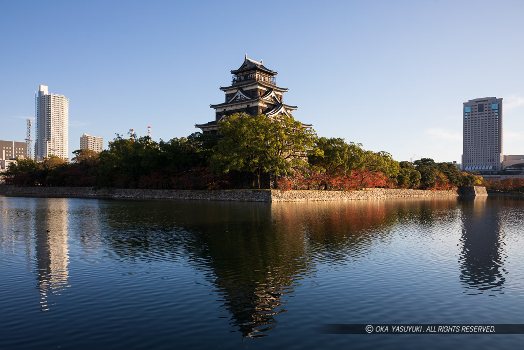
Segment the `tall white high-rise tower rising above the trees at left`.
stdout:
<path fill-rule="evenodd" d="M 35 159 L 56 155 L 68 160 L 69 99 L 49 93 L 45 85 L 36 96 Z"/>

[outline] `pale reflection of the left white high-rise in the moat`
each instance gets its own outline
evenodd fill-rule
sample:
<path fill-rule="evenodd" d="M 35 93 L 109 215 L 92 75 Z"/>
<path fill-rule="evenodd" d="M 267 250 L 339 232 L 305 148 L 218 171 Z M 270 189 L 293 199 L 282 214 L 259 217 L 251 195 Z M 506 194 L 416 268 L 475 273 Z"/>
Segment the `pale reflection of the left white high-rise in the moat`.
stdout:
<path fill-rule="evenodd" d="M 68 285 L 68 199 L 42 198 L 35 215 L 37 288 L 41 311 L 52 305 L 51 295 L 60 295 Z"/>

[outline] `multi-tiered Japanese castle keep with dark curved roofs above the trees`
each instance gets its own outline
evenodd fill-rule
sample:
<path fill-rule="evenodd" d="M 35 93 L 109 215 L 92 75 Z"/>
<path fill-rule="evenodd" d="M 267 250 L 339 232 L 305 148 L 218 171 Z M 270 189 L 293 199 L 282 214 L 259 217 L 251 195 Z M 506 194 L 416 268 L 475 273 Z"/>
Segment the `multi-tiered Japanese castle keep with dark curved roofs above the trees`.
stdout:
<path fill-rule="evenodd" d="M 195 128 L 202 130 L 203 134 L 216 134 L 220 129 L 217 123 L 226 115 L 246 113 L 247 115 L 265 114 L 269 118 L 279 115 L 291 116 L 297 106 L 284 104 L 282 94 L 288 89 L 277 87 L 276 71 L 264 67 L 260 62 L 247 58 L 242 66 L 232 70 L 233 80 L 231 85 L 220 90 L 224 91 L 225 102 L 211 104 L 215 110 L 215 120 L 205 124 L 195 124 Z M 311 128 L 311 124 L 302 124 L 303 128 Z"/>

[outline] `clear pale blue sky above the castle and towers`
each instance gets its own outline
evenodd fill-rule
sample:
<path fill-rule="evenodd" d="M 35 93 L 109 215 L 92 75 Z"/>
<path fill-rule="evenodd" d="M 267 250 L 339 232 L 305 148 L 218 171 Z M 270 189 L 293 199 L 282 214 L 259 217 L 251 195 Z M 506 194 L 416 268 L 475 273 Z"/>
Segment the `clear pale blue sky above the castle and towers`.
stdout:
<path fill-rule="evenodd" d="M 504 98 L 524 154 L 522 1 L 2 1 L 0 140 L 24 141 L 35 91 L 69 98 L 69 151 L 135 129 L 187 136 L 244 55 L 264 59 L 319 136 L 398 160 L 461 161 L 462 103 Z"/>

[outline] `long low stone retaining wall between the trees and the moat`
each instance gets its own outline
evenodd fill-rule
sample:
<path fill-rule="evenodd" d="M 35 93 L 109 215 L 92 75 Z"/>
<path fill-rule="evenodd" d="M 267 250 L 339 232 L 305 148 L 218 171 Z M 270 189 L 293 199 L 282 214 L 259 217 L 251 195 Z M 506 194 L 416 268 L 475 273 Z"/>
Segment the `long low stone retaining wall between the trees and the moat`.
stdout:
<path fill-rule="evenodd" d="M 102 188 L 96 190 L 91 187 L 17 187 L 11 185 L 0 185 L 0 195 L 2 194 L 30 197 L 196 199 L 262 202 L 361 200 L 399 197 L 456 197 L 459 195 L 456 190 L 430 191 L 399 188 L 367 188 L 361 191 L 169 190 L 118 188 Z"/>

